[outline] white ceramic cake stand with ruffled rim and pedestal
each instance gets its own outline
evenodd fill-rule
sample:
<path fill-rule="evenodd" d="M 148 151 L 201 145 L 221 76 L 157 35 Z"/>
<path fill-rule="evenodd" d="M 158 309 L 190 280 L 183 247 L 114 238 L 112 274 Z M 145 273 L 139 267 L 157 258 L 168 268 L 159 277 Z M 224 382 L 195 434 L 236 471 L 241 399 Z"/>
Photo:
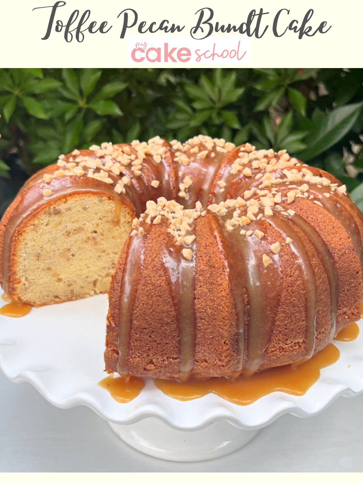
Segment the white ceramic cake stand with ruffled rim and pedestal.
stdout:
<path fill-rule="evenodd" d="M 5 304 L 0 300 L 0 304 Z M 311 417 L 338 396 L 363 392 L 363 325 L 353 342 L 336 341 L 341 356 L 321 370 L 303 396 L 274 392 L 242 407 L 208 394 L 189 402 L 167 397 L 151 379 L 127 404 L 98 386 L 105 378 L 106 295 L 33 308 L 24 318 L 0 316 L 0 368 L 16 383 L 28 381 L 60 408 L 86 405 L 124 441 L 168 460 L 220 457 L 245 445 L 285 413 Z"/>

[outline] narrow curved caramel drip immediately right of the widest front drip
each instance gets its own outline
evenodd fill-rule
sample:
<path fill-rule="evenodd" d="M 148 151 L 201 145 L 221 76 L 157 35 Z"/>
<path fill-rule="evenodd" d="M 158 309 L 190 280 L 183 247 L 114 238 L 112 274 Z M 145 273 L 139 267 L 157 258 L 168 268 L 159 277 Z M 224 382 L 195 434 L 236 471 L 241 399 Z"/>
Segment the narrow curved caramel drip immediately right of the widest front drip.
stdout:
<path fill-rule="evenodd" d="M 317 323 L 317 284 L 315 281 L 314 271 L 309 259 L 309 255 L 300 241 L 298 234 L 293 227 L 279 215 L 274 212 L 278 223 L 274 223 L 272 217 L 267 217 L 266 221 L 272 227 L 281 233 L 282 237 L 286 239 L 290 237 L 292 242 L 289 244 L 292 252 L 295 254 L 297 264 L 302 274 L 302 283 L 305 289 L 305 304 L 306 304 L 306 358 L 313 356 L 316 341 L 316 323 Z"/>

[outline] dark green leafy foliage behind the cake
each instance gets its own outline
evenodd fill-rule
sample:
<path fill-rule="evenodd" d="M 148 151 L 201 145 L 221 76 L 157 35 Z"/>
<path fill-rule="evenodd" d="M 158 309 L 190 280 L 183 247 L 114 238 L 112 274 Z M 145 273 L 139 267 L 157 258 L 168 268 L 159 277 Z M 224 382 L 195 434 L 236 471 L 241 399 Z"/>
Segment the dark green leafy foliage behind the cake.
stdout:
<path fill-rule="evenodd" d="M 0 69 L 0 215 L 61 153 L 196 134 L 287 149 L 363 210 L 363 69 Z"/>

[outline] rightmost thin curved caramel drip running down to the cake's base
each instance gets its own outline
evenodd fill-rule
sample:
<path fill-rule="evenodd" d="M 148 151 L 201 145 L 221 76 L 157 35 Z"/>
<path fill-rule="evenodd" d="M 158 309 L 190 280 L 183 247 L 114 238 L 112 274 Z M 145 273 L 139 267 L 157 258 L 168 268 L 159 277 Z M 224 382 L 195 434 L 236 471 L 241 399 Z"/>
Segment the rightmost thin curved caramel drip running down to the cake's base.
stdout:
<path fill-rule="evenodd" d="M 326 245 L 323 241 L 319 233 L 315 230 L 313 226 L 311 226 L 306 220 L 304 220 L 300 215 L 295 213 L 292 220 L 298 227 L 300 227 L 307 237 L 309 237 L 310 241 L 315 245 L 318 250 L 318 254 L 321 256 L 321 261 L 323 263 L 323 267 L 325 269 L 326 275 L 328 277 L 328 282 L 330 286 L 330 303 L 331 303 L 331 335 L 330 340 L 333 339 L 335 334 L 336 328 L 336 318 L 338 312 L 338 273 L 335 267 L 334 258 Z"/>

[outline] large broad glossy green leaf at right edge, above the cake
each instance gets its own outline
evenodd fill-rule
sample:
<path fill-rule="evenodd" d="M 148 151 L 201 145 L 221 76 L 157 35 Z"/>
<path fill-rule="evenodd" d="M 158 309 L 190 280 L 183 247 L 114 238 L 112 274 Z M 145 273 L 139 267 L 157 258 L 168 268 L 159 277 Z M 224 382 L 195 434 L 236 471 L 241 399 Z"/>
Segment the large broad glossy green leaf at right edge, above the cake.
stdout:
<path fill-rule="evenodd" d="M 336 144 L 353 127 L 362 106 L 363 102 L 348 104 L 333 109 L 324 117 L 319 116 L 319 125 L 305 139 L 308 148 L 300 153 L 300 159 L 308 161 Z"/>

